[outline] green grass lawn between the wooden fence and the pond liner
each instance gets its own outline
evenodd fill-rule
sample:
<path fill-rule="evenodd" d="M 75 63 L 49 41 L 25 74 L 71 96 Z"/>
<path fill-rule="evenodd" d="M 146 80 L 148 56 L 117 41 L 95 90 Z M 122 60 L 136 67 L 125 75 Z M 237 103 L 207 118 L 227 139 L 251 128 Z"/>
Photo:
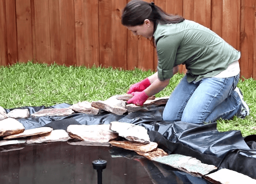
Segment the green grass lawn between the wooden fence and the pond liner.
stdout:
<path fill-rule="evenodd" d="M 113 68 L 66 67 L 57 64 L 17 63 L 0 67 L 0 106 L 51 106 L 60 103 L 106 100 L 125 94 L 131 84 L 152 75 L 152 71 L 123 71 Z M 176 74 L 157 97 L 169 96 L 184 75 Z M 219 120 L 219 131 L 241 130 L 243 136 L 256 134 L 256 81 L 240 81 L 244 99 L 250 107 L 245 119 Z"/>

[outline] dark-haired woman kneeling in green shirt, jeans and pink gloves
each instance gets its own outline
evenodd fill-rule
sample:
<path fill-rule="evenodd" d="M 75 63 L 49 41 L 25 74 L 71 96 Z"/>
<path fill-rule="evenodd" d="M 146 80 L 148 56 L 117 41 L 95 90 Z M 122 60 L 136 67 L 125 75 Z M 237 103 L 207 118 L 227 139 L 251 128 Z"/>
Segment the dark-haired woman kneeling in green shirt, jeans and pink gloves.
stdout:
<path fill-rule="evenodd" d="M 183 64 L 187 73 L 166 104 L 164 120 L 201 124 L 249 114 L 236 87 L 240 52 L 216 33 L 169 15 L 154 3 L 136 0 L 124 8 L 122 24 L 135 35 L 152 39 L 159 59 L 157 73 L 130 87 L 127 93 L 133 98 L 127 103 L 143 105 L 148 96 L 169 84 L 178 65 Z"/>

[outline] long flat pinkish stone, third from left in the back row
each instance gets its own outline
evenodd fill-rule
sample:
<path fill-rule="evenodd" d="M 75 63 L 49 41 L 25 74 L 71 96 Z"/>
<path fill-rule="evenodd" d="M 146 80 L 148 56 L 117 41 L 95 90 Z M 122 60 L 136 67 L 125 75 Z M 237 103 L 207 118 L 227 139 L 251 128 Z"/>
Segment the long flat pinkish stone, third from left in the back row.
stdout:
<path fill-rule="evenodd" d="M 40 116 L 67 116 L 73 114 L 74 111 L 70 108 L 48 108 L 48 109 L 43 109 L 38 112 L 35 112 L 31 114 L 32 116 L 35 117 L 40 117 Z"/>

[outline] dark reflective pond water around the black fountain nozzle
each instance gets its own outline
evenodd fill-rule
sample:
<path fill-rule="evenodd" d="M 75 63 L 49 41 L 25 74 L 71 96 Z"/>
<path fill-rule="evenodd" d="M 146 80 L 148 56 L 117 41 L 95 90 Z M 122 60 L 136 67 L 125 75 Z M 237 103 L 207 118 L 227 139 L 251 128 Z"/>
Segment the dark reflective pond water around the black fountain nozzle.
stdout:
<path fill-rule="evenodd" d="M 55 142 L 0 147 L 0 152 L 0 184 L 96 184 L 92 161 L 97 159 L 108 162 L 103 170 L 104 184 L 210 183 L 116 147 Z"/>

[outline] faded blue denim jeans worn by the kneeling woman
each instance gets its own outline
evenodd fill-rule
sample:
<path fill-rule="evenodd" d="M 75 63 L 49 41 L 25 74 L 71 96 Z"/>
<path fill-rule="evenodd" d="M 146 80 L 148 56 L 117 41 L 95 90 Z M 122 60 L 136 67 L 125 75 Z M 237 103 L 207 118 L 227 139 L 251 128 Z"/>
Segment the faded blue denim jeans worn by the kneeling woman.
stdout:
<path fill-rule="evenodd" d="M 233 118 L 241 110 L 240 97 L 234 91 L 239 76 L 212 77 L 196 83 L 188 83 L 184 76 L 165 106 L 163 119 L 201 124 Z"/>

